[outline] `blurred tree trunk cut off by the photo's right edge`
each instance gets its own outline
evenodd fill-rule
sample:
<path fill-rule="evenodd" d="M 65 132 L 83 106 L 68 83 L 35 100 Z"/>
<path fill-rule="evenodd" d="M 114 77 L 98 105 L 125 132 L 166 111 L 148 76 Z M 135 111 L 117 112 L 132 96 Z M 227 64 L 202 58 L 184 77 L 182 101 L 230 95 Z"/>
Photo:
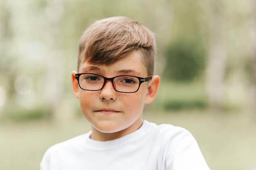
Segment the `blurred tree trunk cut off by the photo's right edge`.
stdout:
<path fill-rule="evenodd" d="M 252 3 L 252 26 L 251 26 L 251 42 L 252 54 L 250 63 L 252 64 L 252 106 L 256 111 L 256 0 Z M 254 112 L 255 113 L 255 112 Z"/>

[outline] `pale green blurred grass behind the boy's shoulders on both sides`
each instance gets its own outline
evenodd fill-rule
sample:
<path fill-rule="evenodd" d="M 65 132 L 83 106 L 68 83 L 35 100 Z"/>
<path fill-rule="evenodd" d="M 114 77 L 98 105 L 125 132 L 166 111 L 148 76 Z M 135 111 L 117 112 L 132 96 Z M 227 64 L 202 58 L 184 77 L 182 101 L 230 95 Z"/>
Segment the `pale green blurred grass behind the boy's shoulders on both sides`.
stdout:
<path fill-rule="evenodd" d="M 188 129 L 211 170 L 256 167 L 256 121 L 251 112 L 207 110 L 144 113 L 144 119 Z M 59 121 L 0 122 L 0 170 L 36 170 L 47 148 L 90 130 L 83 118 Z"/>

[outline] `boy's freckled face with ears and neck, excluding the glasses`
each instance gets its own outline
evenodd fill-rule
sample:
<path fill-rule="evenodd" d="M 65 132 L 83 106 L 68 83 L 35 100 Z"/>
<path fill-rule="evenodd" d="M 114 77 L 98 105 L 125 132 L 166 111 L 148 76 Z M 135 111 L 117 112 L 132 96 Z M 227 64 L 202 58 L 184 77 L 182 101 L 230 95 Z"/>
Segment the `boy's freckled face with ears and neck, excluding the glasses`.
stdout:
<path fill-rule="evenodd" d="M 111 65 L 95 65 L 83 62 L 79 73 L 95 73 L 104 77 L 133 75 L 148 77 L 142 63 L 141 53 L 134 51 Z M 141 113 L 145 103 L 150 103 L 156 95 L 159 77 L 153 76 L 150 82 L 144 82 L 135 93 L 120 93 L 111 81 L 107 81 L 100 91 L 86 91 L 79 88 L 72 72 L 72 85 L 80 101 L 84 117 L 92 125 L 91 138 L 99 141 L 117 139 L 137 130 L 143 120 Z"/>

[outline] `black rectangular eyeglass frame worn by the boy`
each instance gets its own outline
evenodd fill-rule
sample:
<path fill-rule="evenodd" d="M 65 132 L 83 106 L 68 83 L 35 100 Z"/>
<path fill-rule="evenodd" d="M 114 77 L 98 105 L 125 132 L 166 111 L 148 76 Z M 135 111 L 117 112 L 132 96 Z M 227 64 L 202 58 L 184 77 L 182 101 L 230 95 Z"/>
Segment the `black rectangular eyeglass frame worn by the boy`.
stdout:
<path fill-rule="evenodd" d="M 103 79 L 104 79 L 103 86 L 102 86 L 99 90 L 88 90 L 88 89 L 82 88 L 82 87 L 80 86 L 80 83 L 79 83 L 79 77 L 80 77 L 81 75 L 83 75 L 83 74 L 91 74 L 91 75 L 97 75 L 97 76 L 103 77 Z M 137 79 L 139 79 L 139 86 L 138 86 L 138 89 L 137 89 L 136 91 L 134 91 L 134 92 L 118 91 L 118 90 L 116 89 L 115 85 L 114 85 L 114 79 L 115 79 L 116 77 L 121 77 L 121 76 L 136 77 Z M 110 80 L 110 81 L 112 82 L 113 87 L 115 88 L 115 90 L 116 90 L 117 92 L 120 92 L 120 93 L 135 93 L 135 92 L 137 92 L 137 91 L 139 90 L 139 87 L 140 87 L 140 85 L 141 85 L 142 83 L 148 82 L 150 79 L 152 79 L 152 75 L 150 75 L 150 76 L 148 76 L 148 77 L 137 77 L 137 76 L 134 76 L 134 75 L 118 75 L 118 76 L 115 76 L 115 77 L 108 78 L 108 77 L 104 77 L 104 76 L 102 76 L 102 75 L 94 74 L 94 73 L 77 73 L 77 74 L 75 74 L 75 78 L 76 78 L 77 81 L 78 81 L 79 87 L 80 87 L 81 89 L 85 90 L 85 91 L 100 91 L 100 90 L 105 86 L 106 81 Z"/>

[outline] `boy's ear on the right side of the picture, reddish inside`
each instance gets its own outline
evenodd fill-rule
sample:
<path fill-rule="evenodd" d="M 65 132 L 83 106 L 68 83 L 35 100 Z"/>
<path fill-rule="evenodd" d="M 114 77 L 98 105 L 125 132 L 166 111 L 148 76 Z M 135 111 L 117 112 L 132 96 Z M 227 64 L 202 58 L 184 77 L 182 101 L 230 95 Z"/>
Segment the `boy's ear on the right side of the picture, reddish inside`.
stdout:
<path fill-rule="evenodd" d="M 154 75 L 148 84 L 148 93 L 146 95 L 145 104 L 150 104 L 155 99 L 157 95 L 158 87 L 160 83 L 160 77 L 158 75 Z"/>

